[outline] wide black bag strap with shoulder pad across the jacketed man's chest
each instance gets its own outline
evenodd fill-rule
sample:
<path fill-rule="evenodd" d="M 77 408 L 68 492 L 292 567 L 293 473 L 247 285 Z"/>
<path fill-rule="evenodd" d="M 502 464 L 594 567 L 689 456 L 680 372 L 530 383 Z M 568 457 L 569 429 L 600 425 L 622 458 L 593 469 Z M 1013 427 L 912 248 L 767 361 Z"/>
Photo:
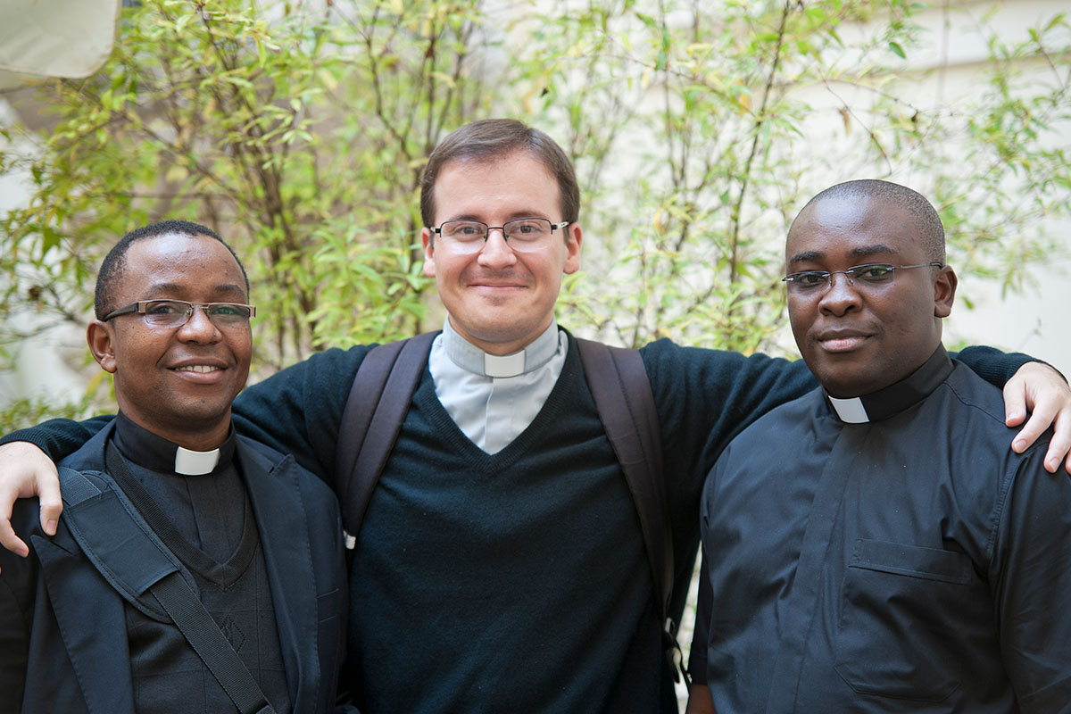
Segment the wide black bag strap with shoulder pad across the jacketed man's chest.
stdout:
<path fill-rule="evenodd" d="M 105 459 L 109 473 L 118 476 L 117 483 L 134 478 L 115 446 L 106 447 Z M 73 469 L 61 467 L 59 473 L 64 523 L 104 579 L 147 613 L 159 617 L 163 608 L 238 711 L 274 714 L 256 680 L 183 577 L 177 559 L 145 521 L 135 518 L 118 489 L 102 491 Z M 147 602 L 146 590 L 154 603 Z"/>

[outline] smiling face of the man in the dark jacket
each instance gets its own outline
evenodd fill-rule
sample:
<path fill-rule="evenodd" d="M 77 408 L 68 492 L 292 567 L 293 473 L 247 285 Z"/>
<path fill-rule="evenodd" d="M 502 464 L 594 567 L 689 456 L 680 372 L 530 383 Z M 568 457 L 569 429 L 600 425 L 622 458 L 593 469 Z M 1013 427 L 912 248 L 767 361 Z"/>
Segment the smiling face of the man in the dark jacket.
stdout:
<path fill-rule="evenodd" d="M 133 243 L 110 305 L 161 299 L 248 301 L 245 278 L 227 247 L 207 236 L 182 233 Z M 230 404 L 250 370 L 247 321 L 216 325 L 198 308 L 184 325 L 161 328 L 131 313 L 94 320 L 88 337 L 101 367 L 115 375 L 119 408 L 135 423 L 191 449 L 197 447 L 187 445 L 193 435 L 212 435 L 209 441 L 226 437 Z"/>

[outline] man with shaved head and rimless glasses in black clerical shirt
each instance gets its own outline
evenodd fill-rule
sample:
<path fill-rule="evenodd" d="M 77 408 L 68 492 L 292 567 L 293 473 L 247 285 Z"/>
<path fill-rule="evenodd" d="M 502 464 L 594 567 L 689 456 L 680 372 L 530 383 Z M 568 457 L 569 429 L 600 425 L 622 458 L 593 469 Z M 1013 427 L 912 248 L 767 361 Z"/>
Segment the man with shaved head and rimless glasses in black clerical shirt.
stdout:
<path fill-rule="evenodd" d="M 1071 481 L 999 446 L 941 347 L 956 276 L 922 196 L 826 189 L 788 232 L 820 390 L 733 441 L 703 497 L 689 712 L 1071 712 Z"/>

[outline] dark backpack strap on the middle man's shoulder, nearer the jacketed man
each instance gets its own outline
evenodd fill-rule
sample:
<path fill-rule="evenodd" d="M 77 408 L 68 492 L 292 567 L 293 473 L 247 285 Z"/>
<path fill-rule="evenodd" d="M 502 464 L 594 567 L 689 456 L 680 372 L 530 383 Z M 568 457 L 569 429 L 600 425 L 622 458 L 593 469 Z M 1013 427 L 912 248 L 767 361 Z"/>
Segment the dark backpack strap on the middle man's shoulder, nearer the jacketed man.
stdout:
<path fill-rule="evenodd" d="M 438 332 L 374 347 L 350 388 L 335 452 L 335 492 L 343 526 L 356 537 Z"/>

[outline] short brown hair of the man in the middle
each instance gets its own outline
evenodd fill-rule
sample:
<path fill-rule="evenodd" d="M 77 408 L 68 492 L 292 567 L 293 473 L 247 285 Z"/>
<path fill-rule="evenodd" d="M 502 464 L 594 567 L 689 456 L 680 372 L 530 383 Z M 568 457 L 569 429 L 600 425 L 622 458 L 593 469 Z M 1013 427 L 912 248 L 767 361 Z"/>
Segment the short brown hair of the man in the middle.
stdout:
<path fill-rule="evenodd" d="M 558 182 L 561 218 L 577 221 L 580 188 L 573 163 L 561 147 L 545 133 L 516 119 L 482 119 L 451 132 L 427 157 L 420 181 L 420 216 L 424 225 L 435 225 L 435 181 L 443 166 L 452 161 L 492 161 L 517 151 L 528 152 L 547 168 Z"/>

